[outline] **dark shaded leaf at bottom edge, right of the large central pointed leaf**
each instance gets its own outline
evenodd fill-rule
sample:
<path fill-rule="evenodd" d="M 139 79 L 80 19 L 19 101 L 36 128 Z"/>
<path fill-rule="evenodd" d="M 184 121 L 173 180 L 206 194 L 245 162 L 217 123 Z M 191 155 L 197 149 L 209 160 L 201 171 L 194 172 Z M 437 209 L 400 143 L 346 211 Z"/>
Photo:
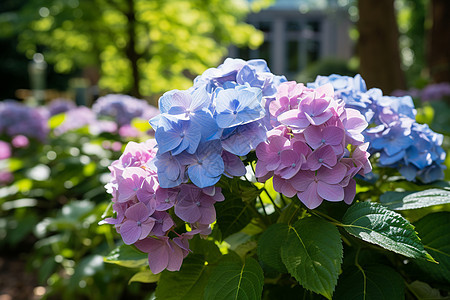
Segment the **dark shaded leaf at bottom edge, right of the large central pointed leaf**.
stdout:
<path fill-rule="evenodd" d="M 336 300 L 405 299 L 403 278 L 384 265 L 368 265 L 344 270 L 334 294 Z"/>

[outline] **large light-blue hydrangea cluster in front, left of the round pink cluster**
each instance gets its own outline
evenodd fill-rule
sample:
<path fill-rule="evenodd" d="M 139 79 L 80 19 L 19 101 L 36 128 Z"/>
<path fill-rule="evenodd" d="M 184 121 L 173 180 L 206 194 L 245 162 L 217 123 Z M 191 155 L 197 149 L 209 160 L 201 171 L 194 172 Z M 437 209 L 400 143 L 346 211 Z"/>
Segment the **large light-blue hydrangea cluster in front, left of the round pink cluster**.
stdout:
<path fill-rule="evenodd" d="M 222 174 L 244 175 L 238 156 L 266 140 L 265 103 L 282 81 L 263 60 L 229 58 L 197 77 L 189 90 L 165 93 L 161 114 L 150 120 L 160 185 L 171 188 L 190 180 L 205 188 Z"/>

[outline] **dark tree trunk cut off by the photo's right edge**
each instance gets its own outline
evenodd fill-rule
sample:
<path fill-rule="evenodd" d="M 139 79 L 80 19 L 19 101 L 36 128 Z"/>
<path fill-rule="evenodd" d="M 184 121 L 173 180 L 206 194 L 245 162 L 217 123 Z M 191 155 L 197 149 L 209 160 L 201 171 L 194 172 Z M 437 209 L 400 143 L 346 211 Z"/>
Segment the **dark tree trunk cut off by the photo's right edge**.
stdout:
<path fill-rule="evenodd" d="M 431 1 L 428 66 L 434 82 L 450 82 L 450 1 Z"/>

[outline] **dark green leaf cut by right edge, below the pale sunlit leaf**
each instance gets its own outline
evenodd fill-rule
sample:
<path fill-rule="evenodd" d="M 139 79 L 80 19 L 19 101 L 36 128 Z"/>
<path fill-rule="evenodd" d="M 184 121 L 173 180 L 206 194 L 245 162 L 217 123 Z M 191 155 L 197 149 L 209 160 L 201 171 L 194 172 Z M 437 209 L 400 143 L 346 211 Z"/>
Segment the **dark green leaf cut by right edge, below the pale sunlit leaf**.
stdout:
<path fill-rule="evenodd" d="M 426 215 L 415 223 L 425 249 L 439 262 L 413 261 L 426 277 L 450 284 L 450 212 Z"/>

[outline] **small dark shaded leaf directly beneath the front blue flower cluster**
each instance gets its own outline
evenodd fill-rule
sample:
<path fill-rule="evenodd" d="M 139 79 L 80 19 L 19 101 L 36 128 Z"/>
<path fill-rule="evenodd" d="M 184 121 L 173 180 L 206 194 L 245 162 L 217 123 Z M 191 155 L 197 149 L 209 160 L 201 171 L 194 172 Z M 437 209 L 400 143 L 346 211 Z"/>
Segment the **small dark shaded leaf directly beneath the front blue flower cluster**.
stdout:
<path fill-rule="evenodd" d="M 226 193 L 225 201 L 218 202 L 214 206 L 217 212 L 217 225 L 222 232 L 222 238 L 243 229 L 252 220 L 250 208 L 242 201 L 243 195 Z"/>

